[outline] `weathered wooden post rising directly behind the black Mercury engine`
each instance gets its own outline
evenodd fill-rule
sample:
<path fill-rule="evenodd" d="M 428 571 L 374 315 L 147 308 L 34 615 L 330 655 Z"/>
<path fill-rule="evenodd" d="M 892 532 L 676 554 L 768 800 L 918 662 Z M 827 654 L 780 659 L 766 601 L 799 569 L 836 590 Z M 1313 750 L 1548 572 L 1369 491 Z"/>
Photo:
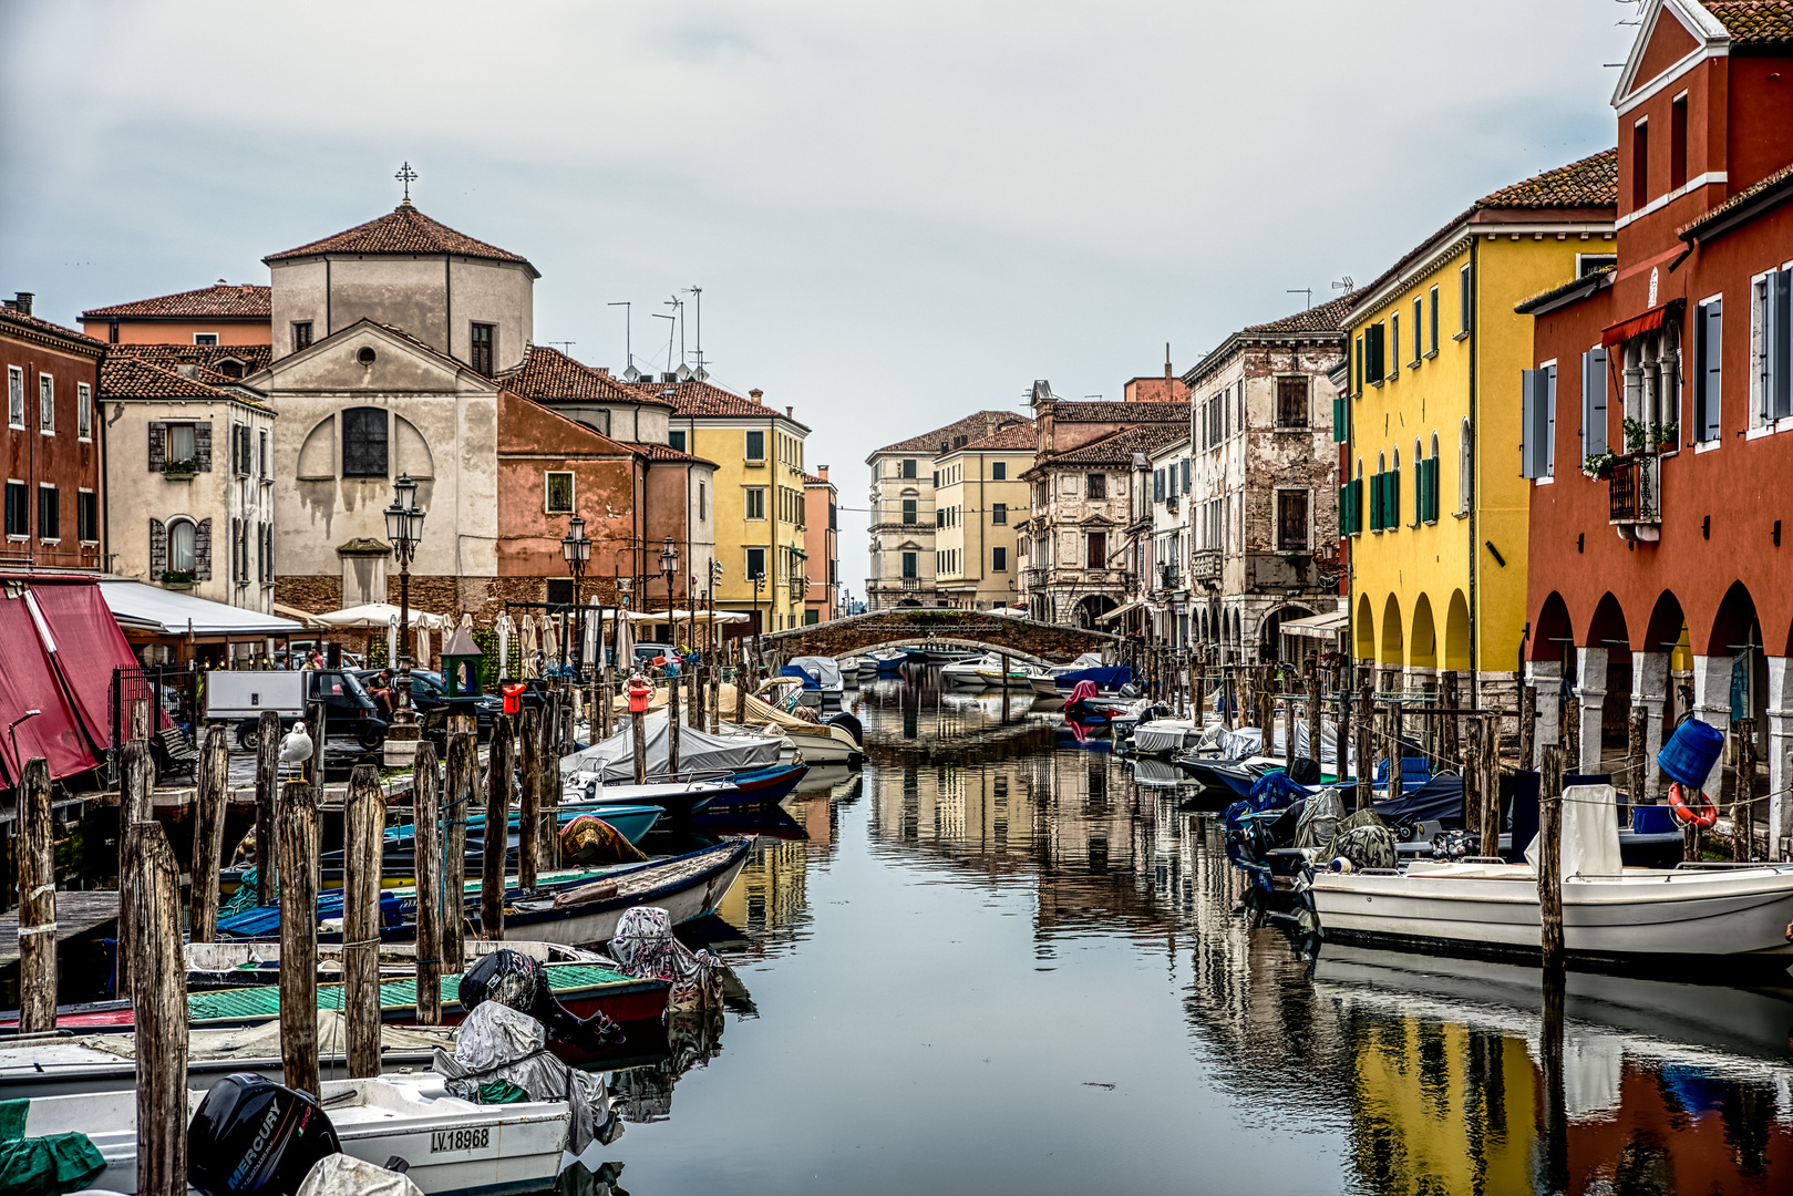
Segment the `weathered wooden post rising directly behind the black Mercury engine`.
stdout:
<path fill-rule="evenodd" d="M 289 1088 L 317 1096 L 317 798 L 308 784 L 282 787 L 274 837 L 282 864 L 280 1062 Z"/>

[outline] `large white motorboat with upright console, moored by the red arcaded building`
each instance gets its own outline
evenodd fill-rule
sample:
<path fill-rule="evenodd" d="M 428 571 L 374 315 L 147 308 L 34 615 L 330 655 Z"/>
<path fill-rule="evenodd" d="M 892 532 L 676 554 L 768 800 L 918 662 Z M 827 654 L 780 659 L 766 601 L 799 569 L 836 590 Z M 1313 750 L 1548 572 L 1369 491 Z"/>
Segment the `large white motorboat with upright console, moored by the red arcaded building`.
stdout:
<path fill-rule="evenodd" d="M 1409 950 L 1540 950 L 1537 859 L 1413 861 L 1400 870 L 1320 871 L 1314 911 L 1329 940 Z M 1563 791 L 1563 947 L 1607 963 L 1693 961 L 1702 968 L 1793 963 L 1793 864 L 1623 868 L 1612 785 Z"/>

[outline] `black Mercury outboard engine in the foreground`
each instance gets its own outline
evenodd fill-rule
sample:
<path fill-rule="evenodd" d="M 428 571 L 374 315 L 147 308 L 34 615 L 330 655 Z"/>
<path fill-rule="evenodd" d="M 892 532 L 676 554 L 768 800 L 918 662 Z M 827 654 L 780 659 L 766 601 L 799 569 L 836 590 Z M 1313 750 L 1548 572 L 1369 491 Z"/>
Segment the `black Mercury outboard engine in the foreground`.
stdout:
<path fill-rule="evenodd" d="M 212 1085 L 186 1128 L 186 1182 L 206 1196 L 292 1196 L 341 1151 L 316 1099 L 237 1072 Z"/>

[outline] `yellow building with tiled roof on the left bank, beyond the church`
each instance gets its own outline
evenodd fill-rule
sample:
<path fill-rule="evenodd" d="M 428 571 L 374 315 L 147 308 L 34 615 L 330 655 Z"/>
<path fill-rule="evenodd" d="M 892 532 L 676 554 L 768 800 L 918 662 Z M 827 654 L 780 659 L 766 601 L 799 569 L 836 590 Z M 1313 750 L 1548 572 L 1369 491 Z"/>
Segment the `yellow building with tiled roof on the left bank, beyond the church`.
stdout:
<path fill-rule="evenodd" d="M 791 407 L 767 407 L 760 391 L 742 398 L 699 380 L 638 386 L 672 403 L 671 446 L 715 463 L 715 559 L 721 565 L 715 608 L 749 613 L 757 619 L 749 628 L 762 631 L 800 626 L 810 568 L 803 500 L 809 425 L 798 423 Z M 827 563 L 818 561 L 818 568 L 825 570 Z M 757 586 L 755 577 L 760 579 Z M 692 594 L 706 597 L 706 583 L 697 577 Z"/>

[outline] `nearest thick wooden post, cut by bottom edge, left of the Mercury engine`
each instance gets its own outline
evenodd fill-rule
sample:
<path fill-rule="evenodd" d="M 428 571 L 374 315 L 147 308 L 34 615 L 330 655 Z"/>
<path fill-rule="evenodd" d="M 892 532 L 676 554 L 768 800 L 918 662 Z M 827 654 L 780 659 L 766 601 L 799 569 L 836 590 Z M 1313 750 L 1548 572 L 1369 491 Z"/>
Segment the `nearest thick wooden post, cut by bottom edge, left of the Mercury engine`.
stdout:
<path fill-rule="evenodd" d="M 136 1191 L 186 1192 L 186 965 L 181 959 L 181 866 L 156 821 L 124 836 L 136 861 L 120 909 L 131 909 L 131 1002 L 136 1006 Z M 50 941 L 56 950 L 56 941 Z"/>

